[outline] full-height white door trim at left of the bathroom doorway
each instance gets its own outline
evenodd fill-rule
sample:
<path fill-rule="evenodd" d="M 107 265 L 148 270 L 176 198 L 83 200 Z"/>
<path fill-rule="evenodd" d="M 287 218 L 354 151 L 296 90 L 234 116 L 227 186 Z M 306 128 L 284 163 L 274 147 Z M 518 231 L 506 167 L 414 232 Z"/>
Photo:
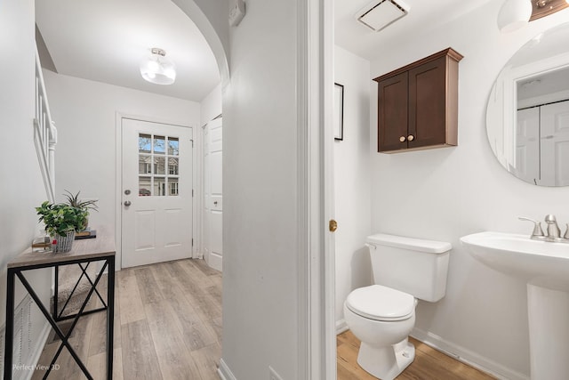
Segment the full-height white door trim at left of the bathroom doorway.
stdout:
<path fill-rule="evenodd" d="M 333 2 L 298 1 L 298 378 L 336 379 Z"/>

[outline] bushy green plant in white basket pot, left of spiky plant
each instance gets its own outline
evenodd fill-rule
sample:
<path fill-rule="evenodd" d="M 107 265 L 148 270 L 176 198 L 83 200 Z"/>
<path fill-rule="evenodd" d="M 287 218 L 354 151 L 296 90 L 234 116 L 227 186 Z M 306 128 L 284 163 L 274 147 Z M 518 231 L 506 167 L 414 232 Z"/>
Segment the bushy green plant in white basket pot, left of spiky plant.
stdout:
<path fill-rule="evenodd" d="M 84 211 L 66 204 L 53 204 L 49 201 L 36 207 L 39 222 L 44 222 L 45 231 L 52 237 L 53 252 L 71 250 L 75 233 L 83 227 Z"/>

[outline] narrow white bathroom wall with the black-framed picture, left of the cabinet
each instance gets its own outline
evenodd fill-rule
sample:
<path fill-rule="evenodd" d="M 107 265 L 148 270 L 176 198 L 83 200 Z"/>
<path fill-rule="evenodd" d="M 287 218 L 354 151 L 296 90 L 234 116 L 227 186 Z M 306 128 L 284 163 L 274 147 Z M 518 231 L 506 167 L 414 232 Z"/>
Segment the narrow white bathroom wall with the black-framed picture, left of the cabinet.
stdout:
<path fill-rule="evenodd" d="M 353 289 L 371 283 L 365 237 L 371 230 L 370 62 L 339 46 L 334 48 L 334 82 L 344 85 L 343 141 L 334 141 L 336 307 L 338 327 L 343 303 Z"/>

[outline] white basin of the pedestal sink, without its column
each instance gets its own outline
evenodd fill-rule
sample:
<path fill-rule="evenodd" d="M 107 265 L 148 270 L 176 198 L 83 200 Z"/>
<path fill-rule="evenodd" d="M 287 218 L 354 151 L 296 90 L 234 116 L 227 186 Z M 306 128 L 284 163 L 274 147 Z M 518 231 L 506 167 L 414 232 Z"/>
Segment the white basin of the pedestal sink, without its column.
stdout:
<path fill-rule="evenodd" d="M 569 244 L 526 235 L 480 232 L 461 238 L 480 263 L 530 284 L 569 290 Z"/>

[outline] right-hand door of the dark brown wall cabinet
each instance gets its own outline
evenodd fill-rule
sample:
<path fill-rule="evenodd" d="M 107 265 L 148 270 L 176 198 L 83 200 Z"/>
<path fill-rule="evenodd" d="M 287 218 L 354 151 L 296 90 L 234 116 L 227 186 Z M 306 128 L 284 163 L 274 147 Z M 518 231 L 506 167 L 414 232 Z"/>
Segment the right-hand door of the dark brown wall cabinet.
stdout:
<path fill-rule="evenodd" d="M 409 148 L 446 141 L 446 57 L 409 70 Z"/>

